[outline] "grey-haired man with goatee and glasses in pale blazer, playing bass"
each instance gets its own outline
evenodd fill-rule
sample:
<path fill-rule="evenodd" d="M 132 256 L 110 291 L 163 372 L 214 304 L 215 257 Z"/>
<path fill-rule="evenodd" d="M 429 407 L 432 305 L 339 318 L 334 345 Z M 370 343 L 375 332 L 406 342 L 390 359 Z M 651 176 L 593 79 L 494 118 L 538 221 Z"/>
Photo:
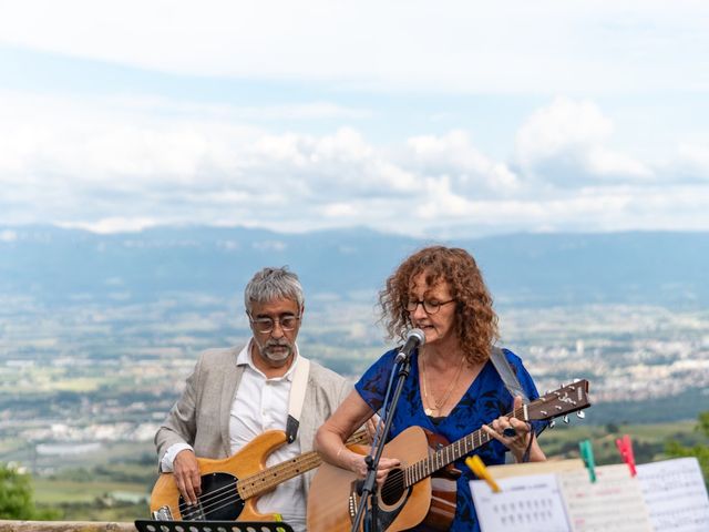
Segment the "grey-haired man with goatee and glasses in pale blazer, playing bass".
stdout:
<path fill-rule="evenodd" d="M 204 351 L 155 434 L 161 471 L 174 472 L 181 494 L 192 504 L 201 494 L 196 457 L 226 458 L 268 429 L 285 431 L 291 388 L 298 396 L 294 377 L 298 382 L 298 367 L 302 371 L 308 365 L 296 344 L 305 311 L 297 275 L 285 267 L 264 268 L 246 286 L 244 304 L 250 340 L 243 348 Z M 317 429 L 351 390 L 342 377 L 316 362 L 309 362 L 302 382 L 297 437 L 274 451 L 267 466 L 312 450 Z M 294 530 L 305 531 L 306 484 L 302 475 L 279 484 L 258 500 L 258 511 L 279 513 Z"/>

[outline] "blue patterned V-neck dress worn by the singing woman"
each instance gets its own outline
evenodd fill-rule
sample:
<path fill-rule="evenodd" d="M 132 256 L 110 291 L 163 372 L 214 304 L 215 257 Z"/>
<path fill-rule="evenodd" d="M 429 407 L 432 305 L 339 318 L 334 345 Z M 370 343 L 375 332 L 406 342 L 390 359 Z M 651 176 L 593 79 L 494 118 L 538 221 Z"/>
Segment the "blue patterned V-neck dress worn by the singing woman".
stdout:
<path fill-rule="evenodd" d="M 503 352 L 530 399 L 537 398 L 538 392 L 534 381 L 522 365 L 520 357 L 507 349 L 503 349 Z M 395 349 L 386 352 L 354 385 L 358 393 L 374 411 L 379 411 L 384 400 L 395 355 Z M 411 357 L 411 372 L 404 382 L 401 399 L 391 424 L 390 439 L 395 438 L 404 429 L 415 424 L 443 436 L 452 443 L 480 429 L 483 423 L 490 423 L 500 416 L 511 412 L 512 407 L 512 396 L 497 375 L 495 367 L 491 361 L 487 361 L 451 413 L 445 418 L 441 418 L 434 424 L 423 411 L 423 402 L 419 390 L 418 352 L 414 352 Z M 544 426 L 544 422 L 535 422 L 534 430 L 538 433 Z M 479 454 L 486 466 L 494 466 L 504 463 L 504 454 L 507 450 L 497 440 L 492 440 L 472 454 Z M 475 477 L 465 466 L 463 459 L 455 461 L 454 467 L 463 474 L 458 479 L 455 518 L 450 530 L 479 532 L 480 525 L 477 524 L 477 516 L 475 515 L 473 499 L 467 484 Z"/>

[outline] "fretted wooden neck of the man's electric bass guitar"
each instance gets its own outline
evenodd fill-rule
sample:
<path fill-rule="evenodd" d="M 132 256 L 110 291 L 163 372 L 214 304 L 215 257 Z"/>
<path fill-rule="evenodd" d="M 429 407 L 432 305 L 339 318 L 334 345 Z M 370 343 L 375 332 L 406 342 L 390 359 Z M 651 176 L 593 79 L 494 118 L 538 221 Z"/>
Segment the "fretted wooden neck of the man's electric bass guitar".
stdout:
<path fill-rule="evenodd" d="M 354 432 L 350 439 L 347 440 L 347 444 L 352 446 L 363 443 L 367 439 L 367 432 L 364 430 L 360 430 Z M 321 463 L 322 459 L 316 451 L 305 452 L 296 458 L 286 460 L 277 466 L 266 468 L 264 471 L 259 471 L 256 474 L 251 474 L 250 477 L 239 480 L 236 489 L 243 500 L 250 499 L 251 497 L 259 497 L 287 480 L 294 479 L 299 474 L 307 473 Z"/>

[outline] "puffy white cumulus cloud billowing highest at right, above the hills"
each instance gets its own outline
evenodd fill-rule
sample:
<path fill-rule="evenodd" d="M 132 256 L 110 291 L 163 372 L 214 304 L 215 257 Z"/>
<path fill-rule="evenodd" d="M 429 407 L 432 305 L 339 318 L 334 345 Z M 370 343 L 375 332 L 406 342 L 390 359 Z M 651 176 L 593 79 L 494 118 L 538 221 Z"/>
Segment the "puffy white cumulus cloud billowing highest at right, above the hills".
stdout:
<path fill-rule="evenodd" d="M 649 167 L 606 145 L 613 129 L 595 103 L 559 98 L 517 132 L 517 163 L 525 175 L 561 187 L 649 181 Z"/>

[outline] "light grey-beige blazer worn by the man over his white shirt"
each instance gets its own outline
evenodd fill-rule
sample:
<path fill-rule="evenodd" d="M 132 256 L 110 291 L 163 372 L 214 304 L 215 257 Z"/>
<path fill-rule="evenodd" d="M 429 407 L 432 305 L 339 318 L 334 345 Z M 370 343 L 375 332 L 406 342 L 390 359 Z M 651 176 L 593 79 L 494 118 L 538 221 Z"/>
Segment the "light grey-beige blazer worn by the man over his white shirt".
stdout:
<path fill-rule="evenodd" d="M 236 364 L 240 350 L 242 347 L 208 349 L 199 355 L 182 397 L 155 434 L 158 462 L 178 442 L 191 444 L 201 458 L 230 454 L 229 412 L 244 372 L 244 366 Z M 301 452 L 312 450 L 316 431 L 352 389 L 343 377 L 310 361 L 298 430 Z"/>

